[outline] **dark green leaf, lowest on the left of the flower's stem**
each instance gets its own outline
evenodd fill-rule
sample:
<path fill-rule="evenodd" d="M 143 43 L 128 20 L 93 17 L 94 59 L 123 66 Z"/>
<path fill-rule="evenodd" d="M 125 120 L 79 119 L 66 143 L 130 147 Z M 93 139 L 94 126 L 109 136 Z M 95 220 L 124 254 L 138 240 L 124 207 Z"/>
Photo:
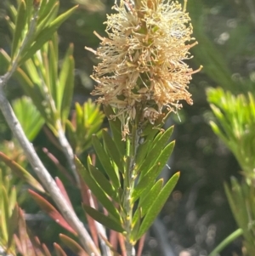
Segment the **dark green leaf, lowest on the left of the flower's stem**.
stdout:
<path fill-rule="evenodd" d="M 111 230 L 115 230 L 116 232 L 120 232 L 120 233 L 125 231 L 122 228 L 122 225 L 120 225 L 113 219 L 109 218 L 108 216 L 105 216 L 105 214 L 99 213 L 99 211 L 97 211 L 94 208 L 89 207 L 86 204 L 82 204 L 82 207 L 83 207 L 84 211 L 86 213 L 88 213 L 88 215 L 90 215 L 93 219 L 98 221 L 100 224 L 105 225 L 105 227 L 107 227 Z"/>

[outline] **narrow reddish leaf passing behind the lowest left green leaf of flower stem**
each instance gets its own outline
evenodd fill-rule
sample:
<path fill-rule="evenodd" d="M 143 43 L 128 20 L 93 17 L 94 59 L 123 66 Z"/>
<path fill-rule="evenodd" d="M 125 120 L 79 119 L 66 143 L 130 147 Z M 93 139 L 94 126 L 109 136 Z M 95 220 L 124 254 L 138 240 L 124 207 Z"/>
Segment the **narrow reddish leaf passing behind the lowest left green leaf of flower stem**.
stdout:
<path fill-rule="evenodd" d="M 88 185 L 85 184 L 85 182 L 83 181 L 83 179 L 81 180 L 81 192 L 82 192 L 82 202 L 88 204 L 89 206 L 91 206 L 91 200 L 93 200 L 91 193 L 89 193 L 88 191 Z M 98 232 L 97 232 L 97 228 L 94 222 L 94 219 L 91 218 L 88 213 L 85 213 L 87 220 L 88 220 L 88 226 L 89 226 L 89 230 L 92 236 L 92 239 L 94 241 L 94 244 L 96 247 L 99 247 L 99 236 L 98 236 Z"/>

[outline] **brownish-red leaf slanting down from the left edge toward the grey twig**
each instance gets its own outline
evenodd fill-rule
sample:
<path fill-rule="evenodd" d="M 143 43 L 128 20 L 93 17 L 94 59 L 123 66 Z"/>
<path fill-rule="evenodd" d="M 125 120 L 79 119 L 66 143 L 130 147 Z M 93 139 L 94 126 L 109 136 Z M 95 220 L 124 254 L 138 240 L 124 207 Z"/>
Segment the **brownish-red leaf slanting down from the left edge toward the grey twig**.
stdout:
<path fill-rule="evenodd" d="M 42 193 L 45 192 L 42 188 L 42 185 L 37 181 L 37 179 L 35 179 L 31 174 L 29 174 L 25 168 L 22 168 L 20 164 L 14 162 L 14 160 L 10 159 L 1 151 L 0 160 L 3 161 L 9 168 L 11 168 L 14 174 L 16 174 L 20 179 L 23 179 L 26 183 L 31 185 L 37 191 L 41 191 Z"/>

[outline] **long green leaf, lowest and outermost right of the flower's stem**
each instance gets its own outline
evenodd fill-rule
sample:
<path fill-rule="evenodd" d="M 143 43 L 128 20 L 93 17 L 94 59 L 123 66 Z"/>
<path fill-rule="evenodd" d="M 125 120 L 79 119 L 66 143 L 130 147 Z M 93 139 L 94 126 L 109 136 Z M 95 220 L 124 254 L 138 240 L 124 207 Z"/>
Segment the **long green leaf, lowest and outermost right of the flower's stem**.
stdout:
<path fill-rule="evenodd" d="M 179 178 L 179 173 L 174 174 L 171 179 L 167 181 L 167 184 L 162 188 L 159 195 L 156 197 L 156 200 L 151 204 L 148 213 L 146 213 L 142 224 L 139 228 L 139 233 L 135 236 L 135 241 L 139 240 L 141 236 L 150 228 L 150 225 L 156 219 L 156 216 L 161 211 L 161 208 L 164 206 L 165 202 L 167 202 L 167 198 L 170 196 L 173 191 L 174 186 L 177 184 Z"/>

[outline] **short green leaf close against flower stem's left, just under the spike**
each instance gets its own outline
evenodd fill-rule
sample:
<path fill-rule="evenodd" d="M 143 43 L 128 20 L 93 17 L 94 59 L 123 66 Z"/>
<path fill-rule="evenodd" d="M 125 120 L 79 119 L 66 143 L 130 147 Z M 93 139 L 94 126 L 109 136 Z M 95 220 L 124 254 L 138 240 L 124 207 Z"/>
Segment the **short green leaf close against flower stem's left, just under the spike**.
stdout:
<path fill-rule="evenodd" d="M 120 152 L 117 150 L 114 141 L 111 139 L 111 136 L 105 131 L 105 129 L 102 130 L 102 134 L 107 152 L 111 156 L 111 159 L 116 163 L 116 166 L 119 168 L 119 171 L 123 173 L 124 167 Z"/>

